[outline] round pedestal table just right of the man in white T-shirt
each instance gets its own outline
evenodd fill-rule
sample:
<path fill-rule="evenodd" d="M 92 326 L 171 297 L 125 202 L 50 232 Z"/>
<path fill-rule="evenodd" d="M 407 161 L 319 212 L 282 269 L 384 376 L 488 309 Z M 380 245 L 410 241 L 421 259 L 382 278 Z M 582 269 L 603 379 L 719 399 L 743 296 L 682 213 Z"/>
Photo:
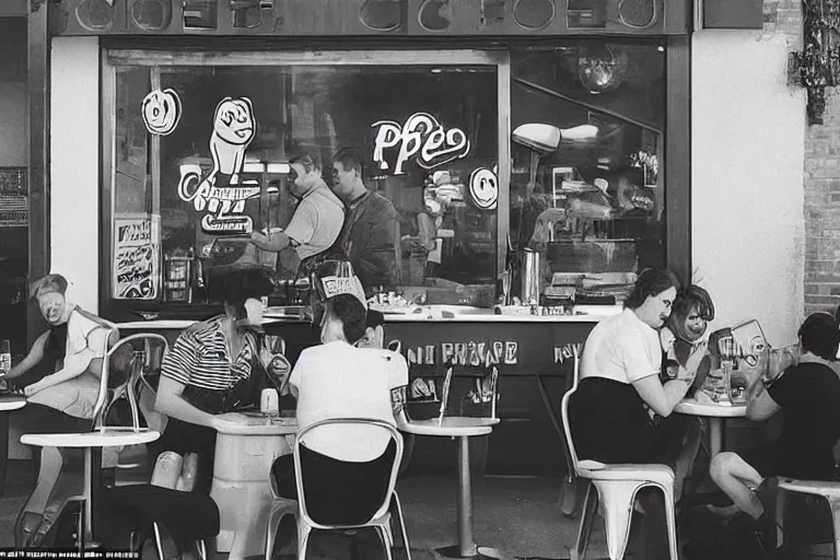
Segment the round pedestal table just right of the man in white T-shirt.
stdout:
<path fill-rule="evenodd" d="M 472 486 L 469 472 L 469 439 L 487 435 L 498 418 L 445 417 L 442 420 L 411 420 L 399 430 L 416 435 L 458 439 L 458 545 L 440 552 L 446 558 L 504 558 L 498 550 L 479 547 L 472 536 Z"/>

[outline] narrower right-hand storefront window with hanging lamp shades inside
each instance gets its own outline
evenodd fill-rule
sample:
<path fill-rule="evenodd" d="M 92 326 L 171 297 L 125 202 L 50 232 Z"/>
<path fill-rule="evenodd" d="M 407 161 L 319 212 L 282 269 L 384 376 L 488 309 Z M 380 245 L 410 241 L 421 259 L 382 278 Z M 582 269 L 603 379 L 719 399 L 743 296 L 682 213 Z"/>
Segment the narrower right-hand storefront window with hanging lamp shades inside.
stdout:
<path fill-rule="evenodd" d="M 665 266 L 664 50 L 512 51 L 511 240 L 544 256 L 549 295 L 620 303 L 635 273 Z"/>

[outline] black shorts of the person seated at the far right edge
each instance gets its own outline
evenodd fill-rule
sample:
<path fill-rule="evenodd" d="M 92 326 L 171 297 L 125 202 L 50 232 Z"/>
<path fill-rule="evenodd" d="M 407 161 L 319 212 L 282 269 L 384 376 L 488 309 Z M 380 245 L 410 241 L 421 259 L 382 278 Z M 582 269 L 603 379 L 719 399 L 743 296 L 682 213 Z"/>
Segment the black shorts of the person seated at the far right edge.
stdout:
<path fill-rule="evenodd" d="M 835 469 L 830 448 L 828 455 L 819 456 L 813 452 L 793 451 L 781 442 L 773 442 L 736 454 L 755 468 L 761 478 L 782 476 L 804 480 L 828 480 Z"/>

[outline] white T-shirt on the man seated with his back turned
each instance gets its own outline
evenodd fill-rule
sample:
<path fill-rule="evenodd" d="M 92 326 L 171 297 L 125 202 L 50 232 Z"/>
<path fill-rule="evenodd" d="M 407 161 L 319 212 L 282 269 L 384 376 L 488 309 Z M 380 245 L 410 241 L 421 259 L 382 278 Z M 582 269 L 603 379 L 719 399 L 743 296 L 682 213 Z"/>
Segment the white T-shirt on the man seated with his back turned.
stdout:
<path fill-rule="evenodd" d="M 408 383 L 408 366 L 398 353 L 335 341 L 304 350 L 289 383 L 298 389 L 301 429 L 332 418 L 373 418 L 395 425 L 390 389 Z M 380 456 L 387 441 L 378 430 L 339 427 L 319 431 L 306 446 L 337 459 L 364 462 Z"/>

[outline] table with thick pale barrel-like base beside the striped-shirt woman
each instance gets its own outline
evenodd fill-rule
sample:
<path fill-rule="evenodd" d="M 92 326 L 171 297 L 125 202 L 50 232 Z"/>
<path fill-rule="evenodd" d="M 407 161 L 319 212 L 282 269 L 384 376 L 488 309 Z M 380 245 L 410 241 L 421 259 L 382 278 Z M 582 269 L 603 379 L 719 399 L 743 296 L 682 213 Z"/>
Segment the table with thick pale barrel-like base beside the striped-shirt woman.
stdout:
<path fill-rule="evenodd" d="M 215 427 L 210 497 L 219 505 L 215 549 L 228 552 L 229 560 L 265 553 L 266 518 L 273 500 L 268 477 L 275 459 L 292 453 L 284 436 L 298 433 L 295 418 L 247 416 L 247 422 Z"/>

